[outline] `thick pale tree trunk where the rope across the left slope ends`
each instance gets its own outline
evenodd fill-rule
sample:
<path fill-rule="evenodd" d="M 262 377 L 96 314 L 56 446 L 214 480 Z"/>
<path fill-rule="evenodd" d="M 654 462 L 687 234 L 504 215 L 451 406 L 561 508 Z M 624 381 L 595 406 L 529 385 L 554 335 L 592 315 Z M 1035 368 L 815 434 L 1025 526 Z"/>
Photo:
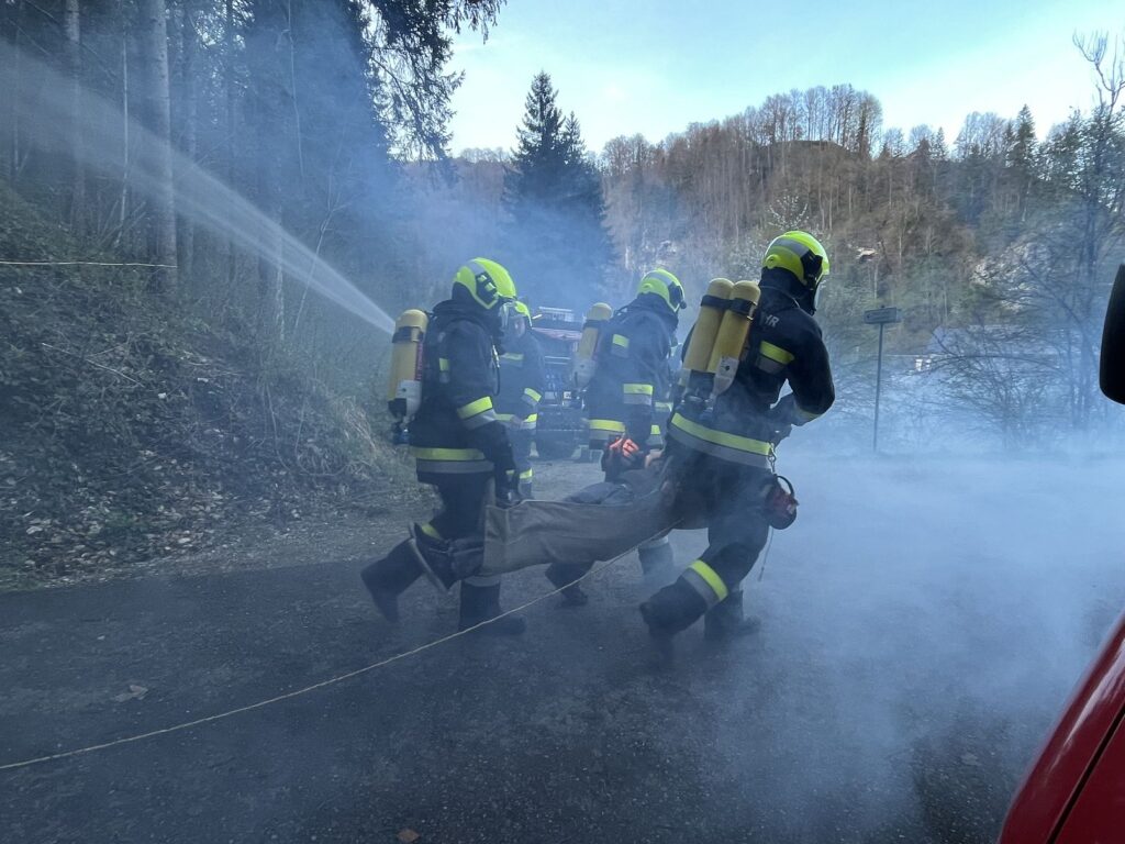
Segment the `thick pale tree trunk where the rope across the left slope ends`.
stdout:
<path fill-rule="evenodd" d="M 164 0 L 141 0 L 144 25 L 148 122 L 155 149 L 148 150 L 155 176 L 150 204 L 150 253 L 164 264 L 153 273 L 155 287 L 166 291 L 176 279 L 176 197 L 172 188 L 171 102 L 168 84 L 168 20 Z"/>

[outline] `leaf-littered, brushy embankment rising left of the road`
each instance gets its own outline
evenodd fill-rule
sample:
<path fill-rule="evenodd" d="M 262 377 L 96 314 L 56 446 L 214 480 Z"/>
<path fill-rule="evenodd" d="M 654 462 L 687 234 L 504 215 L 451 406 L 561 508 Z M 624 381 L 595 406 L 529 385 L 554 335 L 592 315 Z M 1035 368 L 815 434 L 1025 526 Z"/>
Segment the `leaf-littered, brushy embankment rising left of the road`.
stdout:
<path fill-rule="evenodd" d="M 0 185 L 0 259 L 75 255 L 90 250 Z M 147 272 L 0 266 L 0 590 L 416 500 L 381 420 L 263 352 L 236 313 L 153 294 Z"/>

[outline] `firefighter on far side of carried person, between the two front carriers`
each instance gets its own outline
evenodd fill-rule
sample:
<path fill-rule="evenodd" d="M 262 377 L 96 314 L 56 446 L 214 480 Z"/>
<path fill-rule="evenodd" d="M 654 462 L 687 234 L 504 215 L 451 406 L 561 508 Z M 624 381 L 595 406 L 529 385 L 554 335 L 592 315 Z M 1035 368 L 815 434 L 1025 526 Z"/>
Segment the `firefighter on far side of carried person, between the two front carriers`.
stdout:
<path fill-rule="evenodd" d="M 652 448 L 664 443 L 658 406 L 666 413 L 668 358 L 683 307 L 680 279 L 667 270 L 651 270 L 641 278 L 636 298 L 601 331 L 585 404 L 590 448 L 604 451 L 609 458 L 603 459 L 608 481 L 629 466 L 641 465 Z M 672 566 L 672 545 L 666 536 L 645 542 L 637 553 L 645 574 Z M 562 592 L 564 601 L 582 605 L 586 595 L 573 582 L 587 571 L 587 565 L 578 563 L 552 565 L 547 577 L 556 586 L 572 584 Z"/>

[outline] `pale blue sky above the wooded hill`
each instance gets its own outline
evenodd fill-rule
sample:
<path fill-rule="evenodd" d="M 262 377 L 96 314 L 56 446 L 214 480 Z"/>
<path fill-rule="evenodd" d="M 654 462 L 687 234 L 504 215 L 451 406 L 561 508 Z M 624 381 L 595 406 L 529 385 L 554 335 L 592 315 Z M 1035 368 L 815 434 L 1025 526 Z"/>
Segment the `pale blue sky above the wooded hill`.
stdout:
<path fill-rule="evenodd" d="M 540 70 L 594 152 L 843 82 L 880 99 L 884 127 L 926 123 L 952 142 L 965 115 L 1026 104 L 1042 136 L 1094 101 L 1071 38 L 1096 30 L 1125 35 L 1125 0 L 508 0 L 487 43 L 456 42 L 451 149 L 512 149 Z"/>

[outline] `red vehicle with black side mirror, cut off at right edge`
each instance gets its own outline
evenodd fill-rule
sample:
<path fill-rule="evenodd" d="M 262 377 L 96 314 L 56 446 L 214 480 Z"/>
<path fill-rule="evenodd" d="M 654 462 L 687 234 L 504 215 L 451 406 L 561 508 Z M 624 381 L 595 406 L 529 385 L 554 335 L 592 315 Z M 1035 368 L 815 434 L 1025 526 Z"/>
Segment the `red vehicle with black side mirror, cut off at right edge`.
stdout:
<path fill-rule="evenodd" d="M 1101 390 L 1125 404 L 1125 264 L 1101 335 Z M 1125 843 L 1125 614 L 1016 792 L 1000 844 Z"/>

